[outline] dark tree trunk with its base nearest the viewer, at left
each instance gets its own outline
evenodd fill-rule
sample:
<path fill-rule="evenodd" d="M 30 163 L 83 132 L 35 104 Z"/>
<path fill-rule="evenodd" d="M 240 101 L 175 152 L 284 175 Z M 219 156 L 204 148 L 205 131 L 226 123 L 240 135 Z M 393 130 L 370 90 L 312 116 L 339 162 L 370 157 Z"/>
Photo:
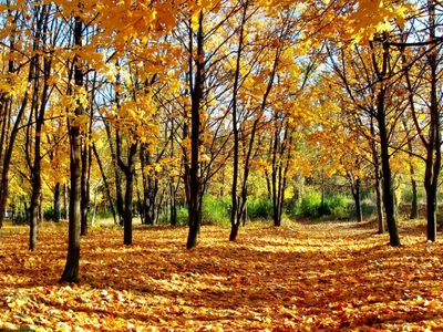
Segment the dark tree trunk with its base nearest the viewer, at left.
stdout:
<path fill-rule="evenodd" d="M 74 44 L 82 46 L 83 23 L 80 17 L 75 17 Z M 78 55 L 74 56 L 74 82 L 78 87 L 83 86 L 82 63 Z M 75 108 L 75 117 L 84 113 L 83 106 L 79 104 Z M 82 191 L 82 137 L 79 125 L 69 123 L 69 136 L 71 146 L 71 190 L 69 214 L 69 240 L 66 264 L 60 282 L 78 282 L 80 266 L 80 226 L 81 226 L 81 191 Z"/>

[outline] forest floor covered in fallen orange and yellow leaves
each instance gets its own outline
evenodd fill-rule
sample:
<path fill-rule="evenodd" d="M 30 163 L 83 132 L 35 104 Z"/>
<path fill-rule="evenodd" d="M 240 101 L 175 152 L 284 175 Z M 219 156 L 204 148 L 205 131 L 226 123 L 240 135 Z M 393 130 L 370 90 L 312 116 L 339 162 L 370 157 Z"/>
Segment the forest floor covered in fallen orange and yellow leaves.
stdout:
<path fill-rule="evenodd" d="M 82 238 L 81 282 L 59 284 L 65 224 L 6 226 L 0 245 L 0 331 L 442 331 L 443 243 L 424 221 L 401 221 L 402 247 L 370 222 L 250 222 L 120 228 Z M 441 234 L 439 234 L 442 237 Z"/>

